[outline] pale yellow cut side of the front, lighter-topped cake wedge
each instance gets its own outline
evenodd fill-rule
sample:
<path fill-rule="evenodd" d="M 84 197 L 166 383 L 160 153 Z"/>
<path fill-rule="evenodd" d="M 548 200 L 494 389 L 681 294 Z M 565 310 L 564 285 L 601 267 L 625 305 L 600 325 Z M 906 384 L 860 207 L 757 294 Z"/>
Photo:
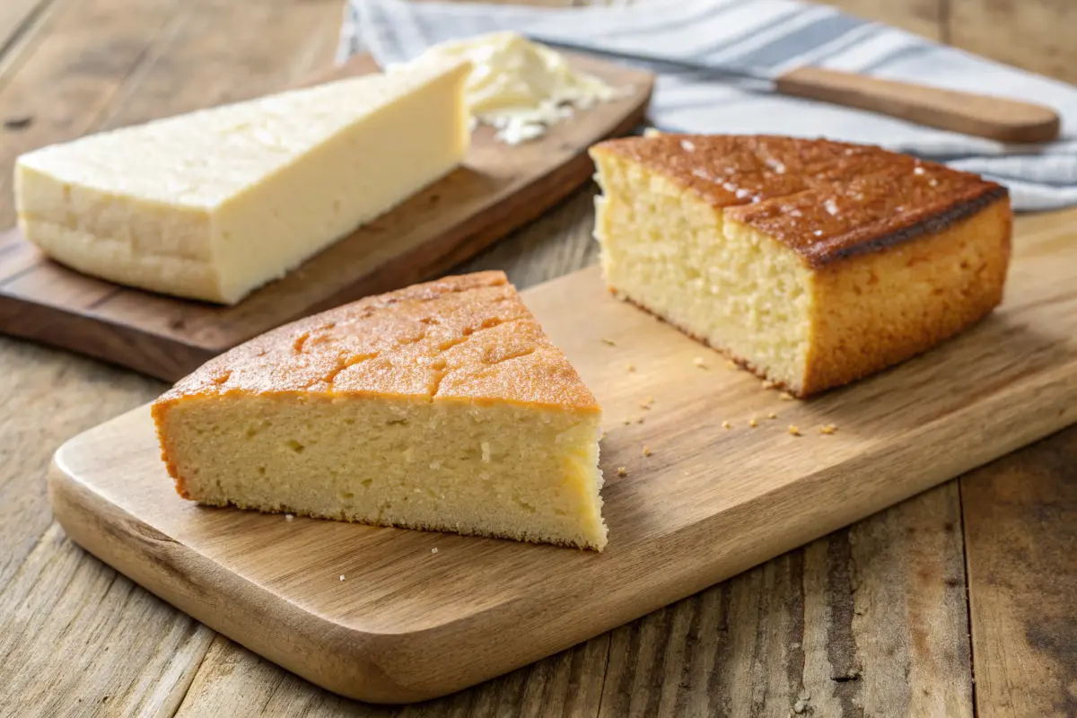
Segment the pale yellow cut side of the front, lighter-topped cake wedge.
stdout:
<path fill-rule="evenodd" d="M 573 546 L 604 543 L 599 419 L 465 402 L 192 402 L 168 432 L 200 503 Z"/>

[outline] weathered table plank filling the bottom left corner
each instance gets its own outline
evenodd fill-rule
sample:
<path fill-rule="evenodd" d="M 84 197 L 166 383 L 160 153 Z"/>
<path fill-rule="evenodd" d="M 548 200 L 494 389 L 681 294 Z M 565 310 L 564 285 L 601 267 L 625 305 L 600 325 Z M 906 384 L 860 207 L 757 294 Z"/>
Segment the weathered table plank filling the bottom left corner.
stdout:
<path fill-rule="evenodd" d="M 16 716 L 170 715 L 212 636 L 54 524 L 0 592 L 0 705 Z"/>

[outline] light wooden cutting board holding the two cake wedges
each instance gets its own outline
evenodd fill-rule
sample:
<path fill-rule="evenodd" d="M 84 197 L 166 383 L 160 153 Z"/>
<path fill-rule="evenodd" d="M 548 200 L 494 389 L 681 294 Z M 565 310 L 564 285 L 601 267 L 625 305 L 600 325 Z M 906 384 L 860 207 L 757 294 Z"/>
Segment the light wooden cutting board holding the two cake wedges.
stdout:
<path fill-rule="evenodd" d="M 595 268 L 524 292 L 605 410 L 601 554 L 198 507 L 173 492 L 146 407 L 59 449 L 55 515 L 103 561 L 318 685 L 442 695 L 1077 421 L 1075 216 L 1022 223 L 1006 301 L 979 326 L 809 402 L 611 298 Z"/>

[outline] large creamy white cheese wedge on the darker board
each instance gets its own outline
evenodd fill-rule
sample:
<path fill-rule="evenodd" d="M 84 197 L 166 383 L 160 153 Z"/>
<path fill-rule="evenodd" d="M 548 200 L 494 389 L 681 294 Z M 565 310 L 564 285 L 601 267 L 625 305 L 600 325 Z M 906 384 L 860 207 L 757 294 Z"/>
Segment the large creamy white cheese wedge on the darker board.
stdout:
<path fill-rule="evenodd" d="M 28 153 L 19 226 L 85 273 L 234 304 L 457 167 L 468 70 L 417 61 Z"/>

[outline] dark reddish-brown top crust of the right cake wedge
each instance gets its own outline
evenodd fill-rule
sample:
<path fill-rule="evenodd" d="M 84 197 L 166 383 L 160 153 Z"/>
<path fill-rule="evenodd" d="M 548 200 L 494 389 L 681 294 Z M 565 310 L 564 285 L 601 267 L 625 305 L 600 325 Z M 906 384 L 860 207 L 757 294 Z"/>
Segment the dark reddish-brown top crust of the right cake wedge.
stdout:
<path fill-rule="evenodd" d="M 1007 197 L 975 174 L 829 140 L 659 135 L 607 140 L 591 152 L 662 174 L 811 267 L 943 231 Z"/>

